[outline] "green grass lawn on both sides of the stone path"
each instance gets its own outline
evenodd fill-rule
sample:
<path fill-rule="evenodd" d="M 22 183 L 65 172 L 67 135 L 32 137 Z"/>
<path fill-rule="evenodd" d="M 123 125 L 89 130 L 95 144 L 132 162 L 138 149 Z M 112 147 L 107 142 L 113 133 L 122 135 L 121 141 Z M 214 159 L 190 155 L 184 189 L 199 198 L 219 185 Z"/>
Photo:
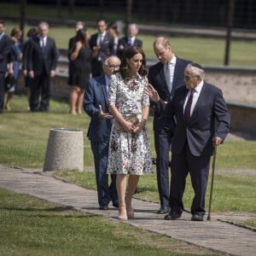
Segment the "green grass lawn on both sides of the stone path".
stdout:
<path fill-rule="evenodd" d="M 42 168 L 49 129 L 74 127 L 84 132 L 84 165 L 93 170 L 90 143 L 86 138 L 90 119 L 85 113 L 73 116 L 68 113 L 67 102 L 54 100 L 50 102 L 49 113 L 28 113 L 26 106 L 26 96 L 15 96 L 12 111 L 1 114 L 1 164 Z M 154 152 L 152 118 L 148 120 L 148 131 Z M 256 213 L 256 176 L 225 173 L 225 169 L 251 169 L 256 172 L 255 151 L 255 141 L 231 138 L 218 148 L 212 212 Z M 85 188 L 96 189 L 94 172 L 59 171 L 55 172 L 55 176 Z M 208 196 L 209 186 L 207 204 Z M 135 197 L 158 201 L 155 173 L 141 177 Z M 188 177 L 184 193 L 184 206 L 188 210 L 192 197 Z M 211 254 L 203 248 L 174 241 L 166 236 L 148 233 L 127 224 L 116 224 L 106 218 L 84 215 L 67 207 L 5 189 L 0 189 L 0 198 L 0 255 L 84 255 L 84 252 L 86 255 Z M 255 226 L 255 221 L 246 224 Z M 135 242 L 138 238 L 140 243 Z M 102 252 L 102 245 L 108 247 L 107 251 Z"/>

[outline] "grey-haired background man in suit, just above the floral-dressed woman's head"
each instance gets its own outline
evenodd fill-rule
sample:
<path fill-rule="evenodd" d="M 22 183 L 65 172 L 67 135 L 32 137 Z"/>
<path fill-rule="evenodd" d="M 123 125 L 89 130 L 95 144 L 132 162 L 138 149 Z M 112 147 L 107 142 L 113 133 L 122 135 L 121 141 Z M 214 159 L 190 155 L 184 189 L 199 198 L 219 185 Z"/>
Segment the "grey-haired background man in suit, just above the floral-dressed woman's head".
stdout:
<path fill-rule="evenodd" d="M 137 38 L 138 28 L 137 25 L 132 23 L 127 27 L 127 36 L 119 39 L 119 44 L 117 47 L 117 55 L 121 59 L 125 49 L 131 46 L 137 46 L 139 48 L 143 48 L 143 41 Z"/>

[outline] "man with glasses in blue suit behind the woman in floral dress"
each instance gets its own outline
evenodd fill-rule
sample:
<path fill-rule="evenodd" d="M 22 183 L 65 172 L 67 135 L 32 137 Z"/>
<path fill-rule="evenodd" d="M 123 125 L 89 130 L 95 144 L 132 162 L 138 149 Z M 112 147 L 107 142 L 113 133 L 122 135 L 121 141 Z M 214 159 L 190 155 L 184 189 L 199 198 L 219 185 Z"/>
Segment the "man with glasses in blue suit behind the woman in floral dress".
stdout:
<path fill-rule="evenodd" d="M 120 61 L 117 56 L 108 57 L 103 63 L 104 74 L 90 79 L 84 93 L 84 111 L 90 116 L 87 136 L 90 139 L 94 155 L 96 185 L 100 210 L 107 210 L 109 201 L 118 207 L 115 175 L 111 175 L 108 186 L 108 142 L 113 116 L 108 110 L 108 84 L 111 74 L 119 70 Z"/>

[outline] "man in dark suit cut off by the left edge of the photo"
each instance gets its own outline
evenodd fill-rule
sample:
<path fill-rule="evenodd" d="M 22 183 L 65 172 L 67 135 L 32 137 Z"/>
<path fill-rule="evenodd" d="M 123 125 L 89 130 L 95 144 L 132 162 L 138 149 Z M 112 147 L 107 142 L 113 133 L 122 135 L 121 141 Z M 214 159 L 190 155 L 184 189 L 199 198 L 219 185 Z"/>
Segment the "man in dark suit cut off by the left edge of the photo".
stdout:
<path fill-rule="evenodd" d="M 8 71 L 10 76 L 14 73 L 12 65 L 8 65 L 11 63 L 12 44 L 11 38 L 5 34 L 5 23 L 0 20 L 0 113 L 3 113 L 5 73 Z"/>

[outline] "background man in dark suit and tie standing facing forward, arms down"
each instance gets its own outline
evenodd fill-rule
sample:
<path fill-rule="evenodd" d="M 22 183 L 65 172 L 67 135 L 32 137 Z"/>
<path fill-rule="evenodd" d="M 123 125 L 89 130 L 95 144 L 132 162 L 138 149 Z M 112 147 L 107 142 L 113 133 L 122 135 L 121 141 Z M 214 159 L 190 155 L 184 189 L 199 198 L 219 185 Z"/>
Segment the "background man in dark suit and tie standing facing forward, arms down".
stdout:
<path fill-rule="evenodd" d="M 58 50 L 55 40 L 48 36 L 49 25 L 41 22 L 38 25 L 38 35 L 30 40 L 28 46 L 28 74 L 32 79 L 30 108 L 32 112 L 48 111 L 50 97 L 50 78 L 55 76 Z M 41 102 L 39 96 L 41 93 Z"/>

